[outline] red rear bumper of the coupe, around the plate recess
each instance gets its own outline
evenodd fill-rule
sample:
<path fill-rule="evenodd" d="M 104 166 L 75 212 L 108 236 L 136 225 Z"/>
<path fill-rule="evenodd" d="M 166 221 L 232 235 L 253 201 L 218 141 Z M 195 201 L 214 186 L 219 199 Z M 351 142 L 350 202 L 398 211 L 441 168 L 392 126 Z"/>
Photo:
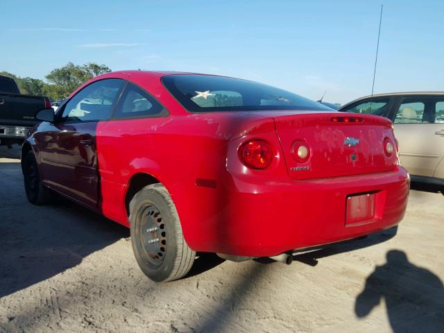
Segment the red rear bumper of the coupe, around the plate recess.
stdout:
<path fill-rule="evenodd" d="M 367 192 L 377 193 L 374 218 L 346 225 L 346 198 Z M 191 248 L 268 257 L 398 225 L 407 207 L 409 175 L 402 167 L 396 167 L 385 173 L 259 186 L 246 186 L 234 179 L 232 189 L 225 193 L 229 198 L 223 210 L 206 221 L 210 228 L 201 229 L 208 232 L 187 240 Z"/>

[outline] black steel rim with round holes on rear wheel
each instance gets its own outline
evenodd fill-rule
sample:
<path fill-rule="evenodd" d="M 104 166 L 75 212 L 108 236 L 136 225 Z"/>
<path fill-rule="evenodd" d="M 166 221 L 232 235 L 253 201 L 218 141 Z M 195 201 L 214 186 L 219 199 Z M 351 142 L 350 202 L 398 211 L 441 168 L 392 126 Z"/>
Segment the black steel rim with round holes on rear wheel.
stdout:
<path fill-rule="evenodd" d="M 167 254 L 167 232 L 160 210 L 153 204 L 145 205 L 140 214 L 142 228 L 139 241 L 148 262 L 160 266 Z"/>

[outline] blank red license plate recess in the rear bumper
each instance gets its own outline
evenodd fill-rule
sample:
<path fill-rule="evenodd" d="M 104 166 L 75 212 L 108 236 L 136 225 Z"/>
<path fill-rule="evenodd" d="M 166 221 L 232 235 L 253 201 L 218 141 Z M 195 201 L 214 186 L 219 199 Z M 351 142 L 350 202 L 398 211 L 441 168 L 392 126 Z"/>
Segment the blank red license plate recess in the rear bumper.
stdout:
<path fill-rule="evenodd" d="M 364 224 L 375 219 L 375 193 L 347 196 L 345 224 Z"/>

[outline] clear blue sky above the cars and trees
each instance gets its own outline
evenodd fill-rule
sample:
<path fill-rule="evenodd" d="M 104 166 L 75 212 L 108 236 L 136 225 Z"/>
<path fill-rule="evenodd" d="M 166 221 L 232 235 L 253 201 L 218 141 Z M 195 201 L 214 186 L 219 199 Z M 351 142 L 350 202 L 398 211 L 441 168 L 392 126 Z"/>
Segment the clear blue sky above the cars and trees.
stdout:
<path fill-rule="evenodd" d="M 2 1 L 0 71 L 71 61 L 258 80 L 311 99 L 444 90 L 444 1 Z"/>

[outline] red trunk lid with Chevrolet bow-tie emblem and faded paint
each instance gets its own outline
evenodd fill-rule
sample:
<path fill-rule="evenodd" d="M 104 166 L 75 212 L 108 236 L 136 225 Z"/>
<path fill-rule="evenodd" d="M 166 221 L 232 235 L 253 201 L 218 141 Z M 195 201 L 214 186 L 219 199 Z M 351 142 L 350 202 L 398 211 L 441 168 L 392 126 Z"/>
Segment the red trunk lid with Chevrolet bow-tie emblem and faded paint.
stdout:
<path fill-rule="evenodd" d="M 392 123 L 383 117 L 343 112 L 274 114 L 287 171 L 293 179 L 329 178 L 390 171 L 398 164 Z M 346 120 L 348 119 L 348 121 Z M 385 150 L 387 139 L 393 153 Z M 305 142 L 308 160 L 293 157 Z"/>

